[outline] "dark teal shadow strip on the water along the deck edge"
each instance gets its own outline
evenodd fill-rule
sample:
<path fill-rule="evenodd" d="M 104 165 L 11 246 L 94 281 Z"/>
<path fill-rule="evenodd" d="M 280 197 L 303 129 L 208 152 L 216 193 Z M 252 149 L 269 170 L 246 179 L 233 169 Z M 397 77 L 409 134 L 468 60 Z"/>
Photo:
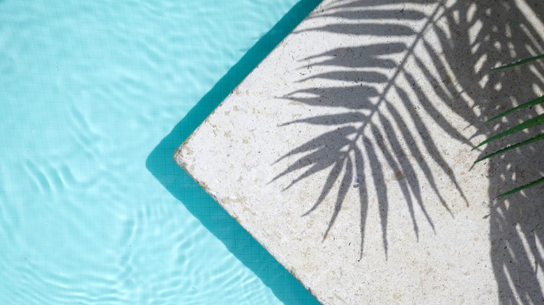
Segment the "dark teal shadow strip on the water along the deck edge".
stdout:
<path fill-rule="evenodd" d="M 188 114 L 158 143 L 146 159 L 146 168 L 231 253 L 255 272 L 274 295 L 286 304 L 315 299 L 250 234 L 218 205 L 172 159 L 179 145 L 209 116 L 222 100 L 308 15 L 320 0 L 302 0 L 260 38 L 251 49 L 202 97 Z M 203 210 L 206 210 L 203 213 Z M 235 238 L 236 237 L 236 238 Z M 244 240 L 244 243 L 239 242 Z M 238 242 L 237 242 L 238 241 Z M 252 249 L 248 253 L 248 249 Z M 256 250 L 257 249 L 257 250 Z M 271 270 L 279 270 L 271 274 Z"/>

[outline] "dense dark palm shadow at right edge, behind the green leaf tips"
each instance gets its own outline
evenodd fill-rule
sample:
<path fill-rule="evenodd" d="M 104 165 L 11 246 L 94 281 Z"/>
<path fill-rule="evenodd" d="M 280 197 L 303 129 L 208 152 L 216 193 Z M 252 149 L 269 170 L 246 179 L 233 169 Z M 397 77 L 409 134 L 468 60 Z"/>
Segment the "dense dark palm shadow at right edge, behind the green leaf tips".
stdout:
<path fill-rule="evenodd" d="M 445 15 L 447 22 L 457 26 L 458 31 L 455 41 L 444 49 L 444 56 L 454 58 L 463 49 L 463 45 L 469 46 L 472 51 L 470 56 L 465 57 L 464 61 L 458 61 L 453 68 L 458 75 L 460 88 L 472 100 L 477 101 L 471 105 L 471 112 L 480 114 L 478 122 L 489 120 L 506 109 L 542 95 L 543 63 L 534 63 L 530 68 L 517 67 L 489 72 L 492 68 L 544 52 L 543 29 L 538 27 L 543 21 L 543 4 L 541 1 L 525 3 L 527 8 L 537 14 L 535 19 L 529 19 L 527 11 L 522 13 L 520 7 L 510 1 L 494 6 L 483 6 L 477 1 L 468 4 L 455 3 L 450 8 L 451 13 Z M 461 18 L 455 19 L 454 13 Z M 494 19 L 495 17 L 499 18 Z M 482 25 L 481 30 L 476 38 L 471 39 L 469 29 L 478 24 Z M 476 69 L 477 63 L 482 61 L 481 68 Z M 517 90 L 513 90 L 513 84 L 518 86 Z M 467 114 L 468 111 L 458 113 Z M 538 109 L 533 107 L 524 109 L 515 116 L 496 120 L 492 126 L 474 124 L 478 125 L 478 134 L 485 134 L 489 138 L 497 130 L 505 130 L 538 113 Z M 469 119 L 467 121 L 475 122 Z M 542 129 L 530 130 L 517 138 L 517 141 L 529 139 L 538 132 L 542 132 Z M 488 155 L 508 141 L 511 139 L 492 143 L 476 157 Z M 531 143 L 528 148 L 510 150 L 501 157 L 487 160 L 490 165 L 490 198 L 542 175 L 542 144 Z M 542 198 L 543 188 L 535 187 L 522 194 L 497 198 L 488 203 L 490 214 L 485 218 L 490 223 L 490 257 L 501 304 L 539 304 L 544 299 L 542 281 L 538 275 L 538 269 L 544 266 L 543 253 L 539 250 L 544 240 L 544 232 L 540 227 L 540 224 L 544 224 Z"/>

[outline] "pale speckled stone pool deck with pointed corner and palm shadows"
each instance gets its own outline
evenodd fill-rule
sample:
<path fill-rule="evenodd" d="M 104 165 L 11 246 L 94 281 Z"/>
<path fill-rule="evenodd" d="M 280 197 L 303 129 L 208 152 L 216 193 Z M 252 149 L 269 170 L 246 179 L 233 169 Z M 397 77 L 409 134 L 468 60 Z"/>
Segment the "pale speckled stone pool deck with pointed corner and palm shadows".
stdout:
<path fill-rule="evenodd" d="M 541 209 L 512 206 L 543 189 L 494 199 L 539 175 L 538 149 L 471 151 L 541 93 L 539 65 L 512 72 L 528 92 L 489 72 L 511 61 L 497 45 L 538 50 L 530 8 L 325 0 L 174 159 L 323 304 L 541 302 Z"/>

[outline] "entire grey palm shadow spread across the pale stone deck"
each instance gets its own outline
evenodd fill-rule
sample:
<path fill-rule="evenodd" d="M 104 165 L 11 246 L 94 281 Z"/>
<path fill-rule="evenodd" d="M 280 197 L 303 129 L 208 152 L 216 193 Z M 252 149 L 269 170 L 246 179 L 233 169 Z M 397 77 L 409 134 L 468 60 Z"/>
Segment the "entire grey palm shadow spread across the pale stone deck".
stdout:
<path fill-rule="evenodd" d="M 490 254 L 500 301 L 543 302 L 537 278 L 543 271 L 544 254 L 544 233 L 538 226 L 544 224 L 542 187 L 492 203 L 471 203 L 452 172 L 455 164 L 446 162 L 432 136 L 433 130 L 439 129 L 471 148 L 478 144 L 476 137 L 481 141 L 494 130 L 504 130 L 539 111 L 527 109 L 495 125 L 482 123 L 542 94 L 542 63 L 501 72 L 490 72 L 490 68 L 543 53 L 544 27 L 539 27 L 543 10 L 541 1 L 363 0 L 338 1 L 324 7 L 312 17 L 338 22 L 303 29 L 301 33 L 361 36 L 361 44 L 341 46 L 301 61 L 300 81 L 317 85 L 282 98 L 310 107 L 328 107 L 331 114 L 292 120 L 280 126 L 319 125 L 329 131 L 278 159 L 281 162 L 298 157 L 274 180 L 296 175 L 289 188 L 320 171 L 328 172 L 321 194 L 316 194 L 315 202 L 304 214 L 314 212 L 325 198 L 334 196 L 334 209 L 324 237 L 333 230 L 342 205 L 352 204 L 345 202 L 348 189 L 358 189 L 361 256 L 369 194 L 376 196 L 387 256 L 388 213 L 398 205 L 391 205 L 386 171 L 394 172 L 390 180 L 402 190 L 417 239 L 420 229 L 416 208 L 435 229 L 432 215 L 425 209 L 425 205 L 434 202 L 421 196 L 422 187 L 431 187 L 451 214 L 441 195 L 445 182 L 437 181 L 430 170 L 430 163 L 434 163 L 447 174 L 448 183 L 467 205 L 489 205 Z M 407 26 L 413 22 L 418 22 L 418 31 Z M 327 80 L 326 85 L 323 79 Z M 446 116 L 451 112 L 466 122 L 465 129 L 474 130 L 471 136 L 462 136 L 466 132 L 450 123 Z M 421 120 L 422 113 L 432 117 L 432 125 Z M 531 130 L 524 138 L 538 132 Z M 486 147 L 480 156 L 504 143 Z M 534 143 L 488 160 L 489 185 L 482 185 L 482 189 L 488 189 L 490 198 L 494 198 L 501 191 L 538 178 L 544 170 L 543 152 L 542 143 Z M 378 156 L 386 162 L 379 162 Z M 478 153 L 466 158 L 475 160 Z M 338 186 L 338 194 L 331 194 L 333 185 Z M 395 198 L 395 202 L 401 200 Z"/>

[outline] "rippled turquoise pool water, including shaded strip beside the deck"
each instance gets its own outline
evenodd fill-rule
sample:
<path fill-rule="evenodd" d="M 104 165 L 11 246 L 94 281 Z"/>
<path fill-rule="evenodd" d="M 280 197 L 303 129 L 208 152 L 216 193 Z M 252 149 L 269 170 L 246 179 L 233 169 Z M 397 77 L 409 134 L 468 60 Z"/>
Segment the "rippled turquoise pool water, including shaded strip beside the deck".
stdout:
<path fill-rule="evenodd" d="M 314 304 L 172 161 L 317 0 L 0 0 L 0 304 Z"/>

